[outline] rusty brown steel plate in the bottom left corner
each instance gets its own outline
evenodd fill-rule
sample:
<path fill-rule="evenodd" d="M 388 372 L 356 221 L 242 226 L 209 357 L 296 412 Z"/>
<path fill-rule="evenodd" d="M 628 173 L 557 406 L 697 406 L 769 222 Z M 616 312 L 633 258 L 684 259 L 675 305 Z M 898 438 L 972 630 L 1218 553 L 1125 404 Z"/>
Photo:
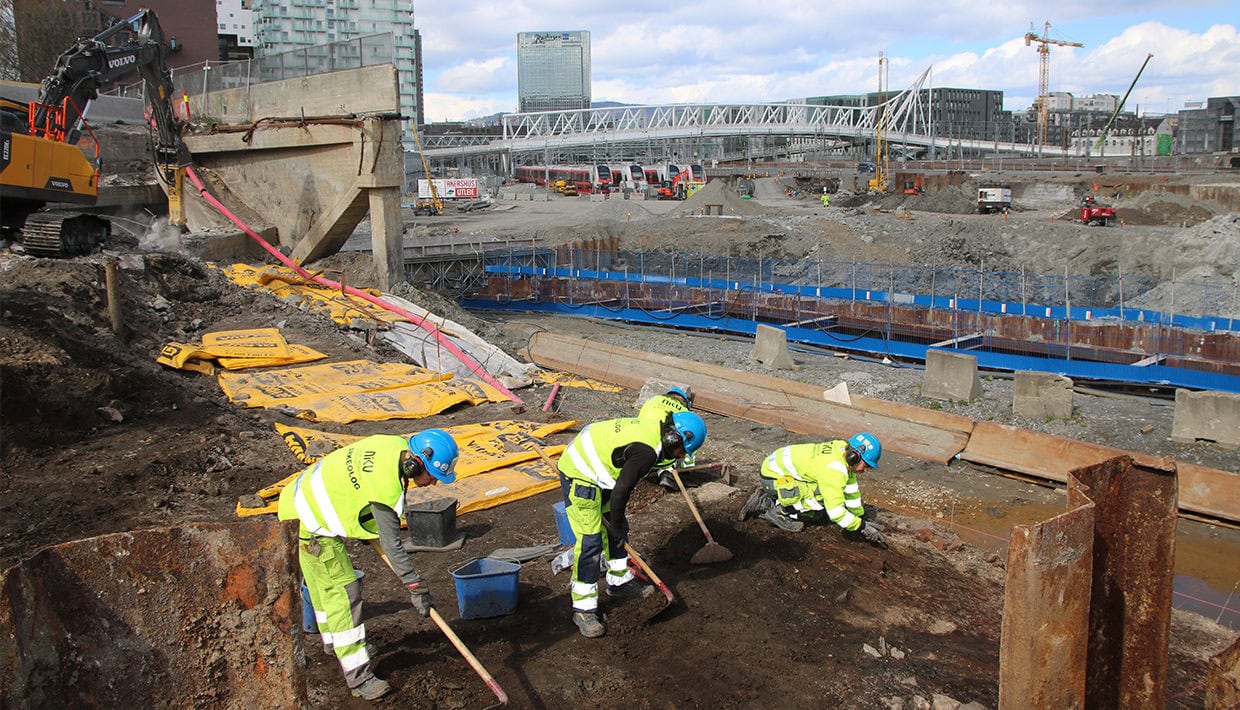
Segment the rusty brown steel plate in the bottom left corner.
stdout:
<path fill-rule="evenodd" d="M 10 568 L 0 706 L 304 706 L 295 534 L 269 519 L 136 530 Z"/>

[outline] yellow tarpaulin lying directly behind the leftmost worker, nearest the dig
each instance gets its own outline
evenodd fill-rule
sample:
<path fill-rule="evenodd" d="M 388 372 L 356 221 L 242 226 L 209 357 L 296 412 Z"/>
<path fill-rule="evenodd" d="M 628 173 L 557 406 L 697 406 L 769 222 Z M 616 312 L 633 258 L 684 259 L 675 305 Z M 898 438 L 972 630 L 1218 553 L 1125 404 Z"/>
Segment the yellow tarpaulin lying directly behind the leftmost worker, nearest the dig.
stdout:
<path fill-rule="evenodd" d="M 456 461 L 456 482 L 430 488 L 410 488 L 407 504 L 454 497 L 458 498 L 459 515 L 548 491 L 559 484 L 559 473 L 547 463 L 544 456 L 559 456 L 564 446 L 546 446 L 539 439 L 575 425 L 577 421 L 538 424 L 502 420 L 450 426 L 445 431 L 456 440 L 461 450 Z M 275 425 L 275 430 L 304 463 L 316 461 L 337 446 L 361 439 L 361 436 L 320 432 L 280 424 Z M 310 451 L 315 451 L 317 456 L 311 457 Z M 275 513 L 280 491 L 300 473 L 300 471 L 291 473 L 258 491 L 258 497 L 267 503 L 264 507 L 244 508 L 238 503 L 237 515 L 248 518 Z M 465 484 L 474 478 L 481 482 Z"/>

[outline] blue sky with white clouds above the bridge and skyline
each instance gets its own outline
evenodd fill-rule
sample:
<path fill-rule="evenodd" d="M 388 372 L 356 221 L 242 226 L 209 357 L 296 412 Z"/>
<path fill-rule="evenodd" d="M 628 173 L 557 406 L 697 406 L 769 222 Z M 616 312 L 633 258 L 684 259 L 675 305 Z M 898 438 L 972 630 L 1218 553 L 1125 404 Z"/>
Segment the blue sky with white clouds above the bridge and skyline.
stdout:
<path fill-rule="evenodd" d="M 432 123 L 517 110 L 517 32 L 589 30 L 593 99 L 630 104 L 766 103 L 900 90 L 932 67 L 935 87 L 1038 95 L 1030 28 L 1050 46 L 1052 92 L 1123 95 L 1174 113 L 1240 94 L 1240 0 L 414 0 Z"/>

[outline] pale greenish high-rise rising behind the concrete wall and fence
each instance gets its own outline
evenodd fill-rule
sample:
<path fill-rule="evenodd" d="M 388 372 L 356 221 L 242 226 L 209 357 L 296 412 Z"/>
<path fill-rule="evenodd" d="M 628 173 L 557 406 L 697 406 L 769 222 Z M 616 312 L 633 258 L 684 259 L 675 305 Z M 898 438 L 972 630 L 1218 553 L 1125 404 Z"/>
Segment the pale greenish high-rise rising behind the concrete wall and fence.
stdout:
<path fill-rule="evenodd" d="M 425 123 L 422 107 L 422 33 L 409 0 L 252 0 L 255 56 L 279 55 L 366 35 L 391 32 L 401 113 Z M 405 130 L 405 150 L 413 135 Z"/>

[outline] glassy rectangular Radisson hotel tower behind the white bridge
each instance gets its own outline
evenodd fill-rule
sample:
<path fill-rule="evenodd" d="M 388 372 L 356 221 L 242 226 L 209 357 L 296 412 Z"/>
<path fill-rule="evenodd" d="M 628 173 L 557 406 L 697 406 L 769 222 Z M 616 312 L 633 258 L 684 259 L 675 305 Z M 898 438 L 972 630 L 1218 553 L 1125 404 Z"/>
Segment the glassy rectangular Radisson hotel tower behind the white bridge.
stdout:
<path fill-rule="evenodd" d="M 517 110 L 590 108 L 590 33 L 517 32 Z"/>

